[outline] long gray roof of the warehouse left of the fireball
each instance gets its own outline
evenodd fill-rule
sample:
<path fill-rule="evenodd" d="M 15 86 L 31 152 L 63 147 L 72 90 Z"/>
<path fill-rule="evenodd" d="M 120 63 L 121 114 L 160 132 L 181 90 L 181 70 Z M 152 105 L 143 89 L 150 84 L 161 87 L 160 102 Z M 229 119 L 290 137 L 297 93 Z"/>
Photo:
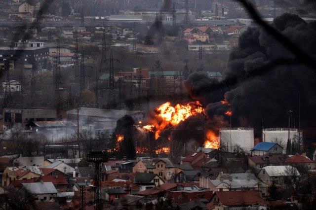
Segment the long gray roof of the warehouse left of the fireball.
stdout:
<path fill-rule="evenodd" d="M 81 107 L 79 109 L 79 115 L 105 117 L 110 119 L 119 119 L 124 115 L 133 115 L 141 111 L 129 111 L 129 110 L 117 110 L 117 109 L 102 109 L 102 108 L 88 108 Z M 67 114 L 77 115 L 77 109 L 67 111 Z"/>

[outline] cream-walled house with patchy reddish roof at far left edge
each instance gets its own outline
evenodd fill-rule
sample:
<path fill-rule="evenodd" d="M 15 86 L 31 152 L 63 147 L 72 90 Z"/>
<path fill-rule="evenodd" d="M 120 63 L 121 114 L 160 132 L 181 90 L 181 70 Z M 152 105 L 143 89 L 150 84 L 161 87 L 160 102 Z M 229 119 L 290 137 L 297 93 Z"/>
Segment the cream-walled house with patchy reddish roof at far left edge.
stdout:
<path fill-rule="evenodd" d="M 6 167 L 2 174 L 2 186 L 8 186 L 13 180 L 38 178 L 42 172 L 38 166 Z"/>

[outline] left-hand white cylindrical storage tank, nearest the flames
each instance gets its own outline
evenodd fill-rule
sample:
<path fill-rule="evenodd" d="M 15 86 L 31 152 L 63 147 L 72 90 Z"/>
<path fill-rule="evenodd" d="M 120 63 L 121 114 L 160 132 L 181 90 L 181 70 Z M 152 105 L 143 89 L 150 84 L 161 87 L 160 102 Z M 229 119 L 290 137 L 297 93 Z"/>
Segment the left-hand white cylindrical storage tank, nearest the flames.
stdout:
<path fill-rule="evenodd" d="M 236 144 L 249 151 L 253 147 L 253 138 L 253 128 L 220 128 L 220 140 L 231 152 Z"/>

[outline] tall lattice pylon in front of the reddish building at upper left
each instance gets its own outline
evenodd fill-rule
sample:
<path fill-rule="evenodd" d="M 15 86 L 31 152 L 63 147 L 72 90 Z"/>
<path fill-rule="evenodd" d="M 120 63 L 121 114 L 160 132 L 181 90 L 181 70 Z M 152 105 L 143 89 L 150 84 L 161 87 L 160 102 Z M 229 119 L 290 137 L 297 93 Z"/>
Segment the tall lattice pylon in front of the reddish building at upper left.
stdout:
<path fill-rule="evenodd" d="M 55 102 L 57 105 L 60 103 L 60 84 L 61 84 L 61 72 L 60 72 L 60 45 L 56 46 L 56 55 L 54 57 L 54 70 L 53 79 L 55 86 Z"/>

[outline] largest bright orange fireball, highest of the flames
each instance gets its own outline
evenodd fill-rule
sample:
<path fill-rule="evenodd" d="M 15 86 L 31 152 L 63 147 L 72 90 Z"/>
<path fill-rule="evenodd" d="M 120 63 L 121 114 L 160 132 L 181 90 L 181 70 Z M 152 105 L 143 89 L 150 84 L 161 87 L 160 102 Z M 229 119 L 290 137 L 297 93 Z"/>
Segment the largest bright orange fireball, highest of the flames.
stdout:
<path fill-rule="evenodd" d="M 190 116 L 198 113 L 203 113 L 202 105 L 198 101 L 190 102 L 186 105 L 177 104 L 175 106 L 172 106 L 170 102 L 166 102 L 158 106 L 156 109 L 156 120 L 154 120 L 153 125 L 148 126 L 152 130 L 155 130 L 155 139 L 158 139 L 160 133 L 168 126 L 176 126 Z"/>

